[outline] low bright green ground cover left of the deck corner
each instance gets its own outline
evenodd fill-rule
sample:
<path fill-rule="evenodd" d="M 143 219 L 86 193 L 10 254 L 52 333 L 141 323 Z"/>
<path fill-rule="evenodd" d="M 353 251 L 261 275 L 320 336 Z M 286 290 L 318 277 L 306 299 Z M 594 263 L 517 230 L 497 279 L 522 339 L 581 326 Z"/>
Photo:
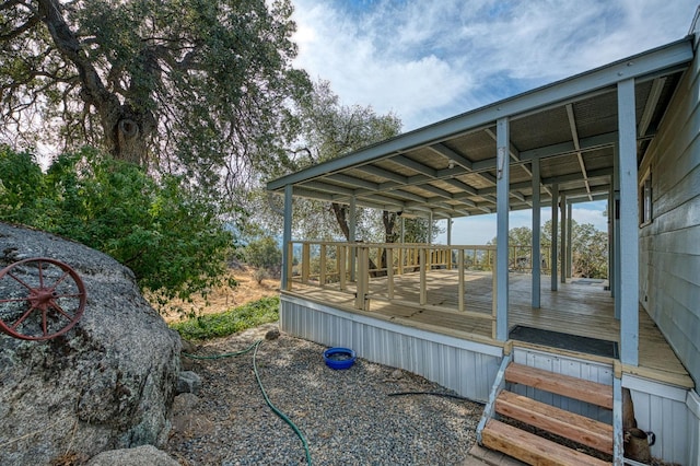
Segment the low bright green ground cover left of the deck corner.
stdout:
<path fill-rule="evenodd" d="M 279 306 L 279 298 L 262 298 L 221 314 L 201 315 L 171 324 L 171 328 L 188 340 L 225 337 L 261 324 L 277 322 Z"/>

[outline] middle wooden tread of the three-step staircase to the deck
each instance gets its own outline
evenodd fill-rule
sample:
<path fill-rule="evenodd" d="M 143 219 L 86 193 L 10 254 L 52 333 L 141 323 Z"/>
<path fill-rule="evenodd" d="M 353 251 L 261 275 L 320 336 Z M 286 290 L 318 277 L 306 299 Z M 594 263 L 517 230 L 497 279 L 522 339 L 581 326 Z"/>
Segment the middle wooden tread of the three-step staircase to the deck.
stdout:
<path fill-rule="evenodd" d="M 555 433 L 599 452 L 612 454 L 612 426 L 576 415 L 532 398 L 503 391 L 495 412 Z"/>

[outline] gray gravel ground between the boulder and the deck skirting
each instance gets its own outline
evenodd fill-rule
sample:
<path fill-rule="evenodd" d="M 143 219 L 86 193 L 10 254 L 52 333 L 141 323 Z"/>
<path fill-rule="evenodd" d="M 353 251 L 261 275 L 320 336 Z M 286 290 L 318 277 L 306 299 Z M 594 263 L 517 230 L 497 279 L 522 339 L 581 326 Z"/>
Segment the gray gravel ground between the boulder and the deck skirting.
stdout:
<path fill-rule="evenodd" d="M 199 347 L 196 354 L 238 351 L 276 326 L 261 326 Z M 314 465 L 457 465 L 475 442 L 482 406 L 431 395 L 450 393 L 418 375 L 358 359 L 335 371 L 325 347 L 282 334 L 264 341 L 258 373 L 270 401 L 306 438 Z M 253 352 L 199 360 L 197 397 L 180 396 L 167 452 L 183 465 L 305 464 L 302 441 L 266 405 Z"/>

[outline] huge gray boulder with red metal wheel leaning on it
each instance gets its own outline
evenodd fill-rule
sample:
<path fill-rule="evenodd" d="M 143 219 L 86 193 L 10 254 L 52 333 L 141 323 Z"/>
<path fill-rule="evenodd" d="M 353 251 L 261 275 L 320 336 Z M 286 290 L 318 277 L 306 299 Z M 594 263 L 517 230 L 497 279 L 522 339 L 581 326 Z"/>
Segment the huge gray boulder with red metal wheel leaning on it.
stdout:
<path fill-rule="evenodd" d="M 70 265 L 88 301 L 82 318 L 62 336 L 28 341 L 0 333 L 0 464 L 40 465 L 163 445 L 179 372 L 178 335 L 116 260 L 0 223 L 0 269 L 31 257 Z M 0 299 L 7 280 L 0 279 Z"/>

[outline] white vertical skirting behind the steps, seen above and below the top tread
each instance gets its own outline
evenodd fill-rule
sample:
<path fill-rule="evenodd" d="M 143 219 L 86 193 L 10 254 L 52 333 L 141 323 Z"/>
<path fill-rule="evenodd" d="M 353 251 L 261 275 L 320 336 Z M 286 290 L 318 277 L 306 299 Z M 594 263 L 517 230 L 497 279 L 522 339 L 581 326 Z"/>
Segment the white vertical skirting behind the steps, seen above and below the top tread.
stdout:
<path fill-rule="evenodd" d="M 513 348 L 513 362 L 605 385 L 612 385 L 615 375 L 612 364 L 553 354 L 529 348 Z M 612 411 L 609 409 L 533 387 L 513 385 L 509 389 L 571 412 L 597 419 L 602 422 L 612 423 Z"/>

